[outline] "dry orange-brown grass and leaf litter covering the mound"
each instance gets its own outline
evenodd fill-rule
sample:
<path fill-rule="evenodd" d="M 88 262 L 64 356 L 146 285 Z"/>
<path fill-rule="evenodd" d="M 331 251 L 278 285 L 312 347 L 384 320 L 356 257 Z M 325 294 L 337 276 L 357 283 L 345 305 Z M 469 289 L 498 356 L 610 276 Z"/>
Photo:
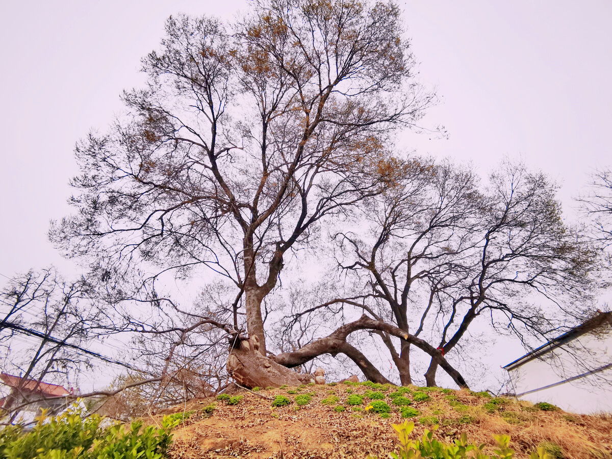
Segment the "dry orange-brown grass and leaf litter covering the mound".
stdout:
<path fill-rule="evenodd" d="M 195 400 L 173 410 L 191 411 L 188 419 L 174 431 L 173 459 L 190 458 L 364 458 L 368 453 L 388 457 L 397 447 L 392 424 L 403 422 L 400 407 L 395 406 L 387 388 L 385 401 L 392 407 L 389 418 L 345 403 L 348 391 L 364 395 L 370 387 L 338 384 L 337 386 L 306 386 L 299 388 L 261 390 L 259 394 L 274 398 L 285 395 L 292 400 L 298 394 L 312 394 L 305 406 L 292 403 L 272 408 L 271 400 L 242 392 L 237 405 L 227 405 L 214 399 Z M 409 387 L 412 392 L 419 390 Z M 297 394 L 287 391 L 297 390 Z M 540 411 L 531 403 L 509 398 L 491 399 L 467 390 L 428 390 L 430 400 L 414 402 L 411 407 L 420 414 L 411 418 L 416 423 L 412 435 L 419 438 L 425 428 L 422 422 L 437 420 L 438 439 L 452 441 L 461 432 L 469 441 L 487 444 L 493 451 L 493 435 L 510 435 L 510 446 L 517 458 L 526 458 L 537 446 L 558 446 L 565 458 L 612 458 L 612 417 L 610 415 L 581 416 L 564 411 Z M 334 411 L 333 403 L 321 403 L 338 397 L 337 405 L 345 411 Z M 406 394 L 412 398 L 411 394 Z M 202 411 L 216 403 L 211 417 Z"/>

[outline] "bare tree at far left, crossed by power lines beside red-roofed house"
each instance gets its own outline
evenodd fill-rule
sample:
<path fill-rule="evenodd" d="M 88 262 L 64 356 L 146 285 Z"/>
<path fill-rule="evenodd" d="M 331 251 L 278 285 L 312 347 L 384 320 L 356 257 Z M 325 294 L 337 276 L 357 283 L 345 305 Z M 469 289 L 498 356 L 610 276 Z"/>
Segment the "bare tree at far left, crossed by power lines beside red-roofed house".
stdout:
<path fill-rule="evenodd" d="M 94 353 L 81 349 L 103 316 L 91 304 L 82 306 L 91 290 L 83 278 L 65 282 L 51 267 L 19 276 L 0 292 L 1 369 L 20 376 L 4 412 L 32 398 L 28 394 L 43 382 L 76 386 L 79 373 L 91 367 Z"/>

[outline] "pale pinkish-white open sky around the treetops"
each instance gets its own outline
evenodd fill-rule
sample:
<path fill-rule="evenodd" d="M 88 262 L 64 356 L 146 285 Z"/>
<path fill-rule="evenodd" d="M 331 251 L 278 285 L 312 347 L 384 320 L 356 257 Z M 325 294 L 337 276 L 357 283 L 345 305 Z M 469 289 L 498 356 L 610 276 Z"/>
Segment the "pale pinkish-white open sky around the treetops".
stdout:
<path fill-rule="evenodd" d="M 400 1 L 418 78 L 441 103 L 406 133 L 420 154 L 470 161 L 487 174 L 520 157 L 562 185 L 568 220 L 595 168 L 612 166 L 612 2 Z M 179 12 L 231 18 L 248 0 L 2 2 L 0 6 L 0 275 L 55 264 L 47 241 L 70 213 L 73 148 L 104 131 L 119 95 L 143 83 L 140 58 Z M 0 283 L 1 280 L 0 280 Z M 507 362 L 504 362 L 507 363 Z"/>

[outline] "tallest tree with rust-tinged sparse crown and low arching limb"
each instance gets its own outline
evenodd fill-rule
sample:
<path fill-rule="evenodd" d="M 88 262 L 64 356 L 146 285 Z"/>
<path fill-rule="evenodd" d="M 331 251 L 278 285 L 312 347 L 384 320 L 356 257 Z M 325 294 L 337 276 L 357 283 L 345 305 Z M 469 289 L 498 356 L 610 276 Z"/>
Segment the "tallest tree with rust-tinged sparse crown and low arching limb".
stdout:
<path fill-rule="evenodd" d="M 262 302 L 286 253 L 400 178 L 392 135 L 416 126 L 435 98 L 412 67 L 390 2 L 270 0 L 231 24 L 170 18 L 160 50 L 143 59 L 146 88 L 125 92 L 110 130 L 78 145 L 78 212 L 52 237 L 100 282 L 138 266 L 157 267 L 151 280 L 169 271 L 207 278 L 198 267 L 227 278 L 233 324 L 200 321 L 242 340 L 245 313 L 269 367 Z M 359 329 L 414 341 L 465 384 L 427 343 L 373 318 L 340 327 L 319 351 L 345 353 L 367 372 L 346 343 Z M 277 360 L 306 358 L 288 357 Z"/>

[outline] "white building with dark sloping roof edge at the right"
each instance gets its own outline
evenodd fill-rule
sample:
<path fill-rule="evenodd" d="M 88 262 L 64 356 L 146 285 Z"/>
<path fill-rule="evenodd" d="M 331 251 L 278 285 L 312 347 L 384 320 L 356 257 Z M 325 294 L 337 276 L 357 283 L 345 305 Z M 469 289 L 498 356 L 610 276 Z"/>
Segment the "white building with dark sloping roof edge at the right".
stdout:
<path fill-rule="evenodd" d="M 580 414 L 612 412 L 612 312 L 504 367 L 517 397 Z"/>

